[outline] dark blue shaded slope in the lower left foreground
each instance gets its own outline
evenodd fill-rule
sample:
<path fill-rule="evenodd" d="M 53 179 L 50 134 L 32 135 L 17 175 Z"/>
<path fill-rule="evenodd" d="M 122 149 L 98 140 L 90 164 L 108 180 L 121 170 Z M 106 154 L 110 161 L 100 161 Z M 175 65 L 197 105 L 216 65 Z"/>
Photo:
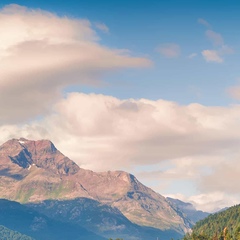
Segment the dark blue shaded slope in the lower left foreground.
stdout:
<path fill-rule="evenodd" d="M 20 203 L 0 199 L 0 225 L 36 240 L 106 240 L 83 227 L 51 219 Z"/>

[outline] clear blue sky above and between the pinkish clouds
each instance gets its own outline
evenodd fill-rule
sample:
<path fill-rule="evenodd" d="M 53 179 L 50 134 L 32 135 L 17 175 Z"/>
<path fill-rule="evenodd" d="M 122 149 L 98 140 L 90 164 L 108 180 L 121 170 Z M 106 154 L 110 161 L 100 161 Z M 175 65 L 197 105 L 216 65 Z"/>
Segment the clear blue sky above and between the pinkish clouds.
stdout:
<path fill-rule="evenodd" d="M 1 1 L 2 6 L 9 1 Z M 234 102 L 226 88 L 239 78 L 238 56 L 240 30 L 236 1 L 16 1 L 15 3 L 48 10 L 59 15 L 89 19 L 107 25 L 109 33 L 99 33 L 108 47 L 129 49 L 135 55 L 150 58 L 154 66 L 130 70 L 107 78 L 108 87 L 83 88 L 84 92 L 111 94 L 119 98 L 164 98 L 182 104 L 227 105 Z M 224 44 L 234 49 L 224 63 L 206 63 L 201 52 L 215 49 L 207 39 L 208 28 L 221 34 Z M 167 59 L 156 48 L 161 44 L 179 45 L 181 54 Z M 189 59 L 191 54 L 198 54 Z M 115 82 L 126 82 L 117 86 Z M 70 88 L 71 90 L 72 88 Z"/>

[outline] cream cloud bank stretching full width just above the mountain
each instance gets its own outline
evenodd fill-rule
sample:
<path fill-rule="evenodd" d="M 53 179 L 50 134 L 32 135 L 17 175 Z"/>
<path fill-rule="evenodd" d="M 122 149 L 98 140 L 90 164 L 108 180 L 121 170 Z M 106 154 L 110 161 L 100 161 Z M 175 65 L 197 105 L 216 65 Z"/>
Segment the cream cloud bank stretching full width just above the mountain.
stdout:
<path fill-rule="evenodd" d="M 238 105 L 182 106 L 164 100 L 71 93 L 53 109 L 54 113 L 31 124 L 2 125 L 1 143 L 19 136 L 51 139 L 83 168 L 123 169 L 146 182 L 153 176 L 155 182 L 187 179 L 201 194 L 221 193 L 216 202 L 222 205 L 230 203 L 223 193 L 230 198 L 240 191 Z M 162 168 L 166 163 L 170 167 Z M 144 170 L 144 175 L 136 170 L 139 167 L 159 171 Z M 155 190 L 162 191 L 158 186 Z M 208 209 L 211 201 L 196 206 Z"/>

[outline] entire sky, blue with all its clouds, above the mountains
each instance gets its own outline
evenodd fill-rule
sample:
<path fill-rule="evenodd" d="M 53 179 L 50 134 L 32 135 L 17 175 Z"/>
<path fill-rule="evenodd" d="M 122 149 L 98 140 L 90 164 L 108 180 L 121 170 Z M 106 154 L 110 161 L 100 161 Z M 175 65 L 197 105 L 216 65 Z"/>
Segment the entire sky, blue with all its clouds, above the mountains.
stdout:
<path fill-rule="evenodd" d="M 240 203 L 240 3 L 0 2 L 0 144 L 50 139 L 215 211 Z"/>

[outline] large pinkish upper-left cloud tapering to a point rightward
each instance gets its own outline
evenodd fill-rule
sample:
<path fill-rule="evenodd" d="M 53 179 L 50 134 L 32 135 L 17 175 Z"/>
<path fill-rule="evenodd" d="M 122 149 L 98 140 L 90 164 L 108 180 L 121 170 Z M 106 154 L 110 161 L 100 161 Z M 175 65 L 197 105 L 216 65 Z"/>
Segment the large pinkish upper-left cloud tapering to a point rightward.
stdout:
<path fill-rule="evenodd" d="M 0 10 L 0 32 L 0 123 L 46 113 L 65 86 L 98 85 L 114 70 L 151 64 L 101 46 L 88 20 L 18 5 Z"/>

